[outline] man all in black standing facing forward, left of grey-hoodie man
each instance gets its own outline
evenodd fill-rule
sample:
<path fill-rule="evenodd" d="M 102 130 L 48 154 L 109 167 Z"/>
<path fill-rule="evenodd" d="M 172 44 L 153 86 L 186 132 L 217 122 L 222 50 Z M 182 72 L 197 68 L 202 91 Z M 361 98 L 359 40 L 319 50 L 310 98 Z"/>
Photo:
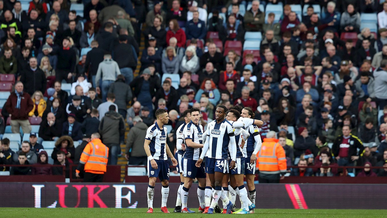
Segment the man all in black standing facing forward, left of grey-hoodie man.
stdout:
<path fill-rule="evenodd" d="M 73 49 L 70 48 L 70 39 L 68 37 L 64 38 L 62 41 L 63 47 L 60 47 L 58 53 L 51 53 L 53 55 L 58 55 L 56 79 L 57 81 L 62 81 L 63 79 L 67 82 L 72 82 L 72 73 L 75 71 L 75 58 L 76 53 Z"/>

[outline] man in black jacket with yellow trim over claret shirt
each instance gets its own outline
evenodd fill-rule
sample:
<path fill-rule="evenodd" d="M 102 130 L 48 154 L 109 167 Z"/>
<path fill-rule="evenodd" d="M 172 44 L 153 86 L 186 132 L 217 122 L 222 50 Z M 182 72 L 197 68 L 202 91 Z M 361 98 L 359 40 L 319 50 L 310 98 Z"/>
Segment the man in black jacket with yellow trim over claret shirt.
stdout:
<path fill-rule="evenodd" d="M 343 125 L 342 135 L 338 136 L 332 145 L 332 154 L 335 156 L 337 164 L 339 166 L 353 166 L 353 162 L 363 156 L 363 151 L 363 142 L 351 134 L 349 125 Z"/>

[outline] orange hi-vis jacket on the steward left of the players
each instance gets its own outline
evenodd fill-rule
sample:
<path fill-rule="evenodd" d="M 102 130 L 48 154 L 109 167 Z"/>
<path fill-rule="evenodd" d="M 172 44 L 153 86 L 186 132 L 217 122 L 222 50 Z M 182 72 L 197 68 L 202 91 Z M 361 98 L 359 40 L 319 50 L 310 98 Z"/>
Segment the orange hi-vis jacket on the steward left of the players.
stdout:
<path fill-rule="evenodd" d="M 93 139 L 83 149 L 79 163 L 85 165 L 84 171 L 87 173 L 104 174 L 108 155 L 109 148 L 101 142 L 101 139 Z"/>

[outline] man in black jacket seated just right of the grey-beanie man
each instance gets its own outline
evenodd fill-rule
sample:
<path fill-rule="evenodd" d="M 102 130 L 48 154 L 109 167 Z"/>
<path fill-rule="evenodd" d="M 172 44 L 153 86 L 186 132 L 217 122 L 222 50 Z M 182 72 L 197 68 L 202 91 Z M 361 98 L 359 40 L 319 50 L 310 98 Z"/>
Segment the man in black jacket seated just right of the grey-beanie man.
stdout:
<path fill-rule="evenodd" d="M 168 108 L 168 111 L 176 110 L 177 101 L 179 100 L 179 96 L 176 92 L 176 89 L 171 86 L 171 82 L 168 80 L 165 80 L 163 82 L 163 88 L 160 88 L 156 92 L 156 100 L 155 108 L 157 108 L 157 103 L 159 99 L 165 99 L 166 101 L 166 107 Z"/>

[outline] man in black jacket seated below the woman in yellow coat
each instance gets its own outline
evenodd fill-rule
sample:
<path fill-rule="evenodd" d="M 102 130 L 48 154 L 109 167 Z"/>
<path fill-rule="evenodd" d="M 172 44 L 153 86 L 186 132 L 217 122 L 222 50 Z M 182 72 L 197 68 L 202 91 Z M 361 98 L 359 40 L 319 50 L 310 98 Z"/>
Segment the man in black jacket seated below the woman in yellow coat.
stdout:
<path fill-rule="evenodd" d="M 40 123 L 38 143 L 41 144 L 43 141 L 56 141 L 61 134 L 62 123 L 56 121 L 53 112 L 48 112 L 47 119 Z"/>

